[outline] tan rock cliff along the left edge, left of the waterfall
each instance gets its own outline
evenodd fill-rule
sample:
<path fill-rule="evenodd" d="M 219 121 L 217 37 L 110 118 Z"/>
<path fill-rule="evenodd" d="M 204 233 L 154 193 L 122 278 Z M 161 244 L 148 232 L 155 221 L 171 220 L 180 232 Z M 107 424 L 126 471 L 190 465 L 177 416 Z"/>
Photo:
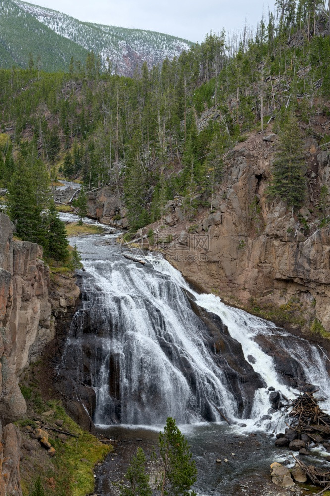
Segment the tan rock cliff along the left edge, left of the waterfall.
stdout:
<path fill-rule="evenodd" d="M 21 436 L 12 424 L 26 412 L 19 376 L 54 338 L 56 312 L 79 295 L 77 287 L 65 295 L 51 285 L 49 298 L 42 256 L 37 244 L 13 239 L 13 225 L 0 213 L 0 495 L 21 495 Z"/>

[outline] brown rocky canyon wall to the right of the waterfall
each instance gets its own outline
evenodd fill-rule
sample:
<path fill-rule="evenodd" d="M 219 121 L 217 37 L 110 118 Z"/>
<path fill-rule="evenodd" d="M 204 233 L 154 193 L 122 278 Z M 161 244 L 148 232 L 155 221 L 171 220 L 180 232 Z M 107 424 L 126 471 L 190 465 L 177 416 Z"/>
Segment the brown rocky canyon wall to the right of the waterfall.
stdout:
<path fill-rule="evenodd" d="M 293 213 L 266 195 L 277 139 L 251 135 L 228 153 L 212 214 L 200 209 L 189 223 L 175 203 L 168 205 L 172 227 L 162 236 L 174 241 L 166 256 L 187 279 L 232 303 L 298 298 L 330 331 L 330 225 L 320 228 L 318 209 L 321 186 L 330 191 L 330 151 L 306 141 L 308 195 Z"/>

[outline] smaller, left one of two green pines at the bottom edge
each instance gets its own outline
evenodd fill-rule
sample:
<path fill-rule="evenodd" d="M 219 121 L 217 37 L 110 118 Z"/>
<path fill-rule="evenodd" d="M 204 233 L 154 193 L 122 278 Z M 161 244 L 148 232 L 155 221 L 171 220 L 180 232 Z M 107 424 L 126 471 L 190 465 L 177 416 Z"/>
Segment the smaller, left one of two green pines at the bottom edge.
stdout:
<path fill-rule="evenodd" d="M 138 448 L 125 474 L 129 486 L 120 486 L 120 496 L 151 496 L 149 475 L 145 471 L 146 457 L 142 448 Z"/>

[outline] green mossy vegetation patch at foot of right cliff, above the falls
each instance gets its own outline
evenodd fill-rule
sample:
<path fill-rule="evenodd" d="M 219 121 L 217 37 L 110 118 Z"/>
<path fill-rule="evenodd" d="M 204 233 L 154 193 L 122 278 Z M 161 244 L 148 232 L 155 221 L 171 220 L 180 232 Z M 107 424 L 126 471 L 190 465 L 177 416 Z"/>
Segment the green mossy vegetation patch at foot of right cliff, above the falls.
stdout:
<path fill-rule="evenodd" d="M 306 323 L 306 319 L 301 315 L 302 304 L 295 298 L 279 306 L 272 303 L 259 303 L 255 298 L 250 298 L 244 310 L 265 320 L 271 320 L 281 327 L 287 325 L 303 327 Z"/>

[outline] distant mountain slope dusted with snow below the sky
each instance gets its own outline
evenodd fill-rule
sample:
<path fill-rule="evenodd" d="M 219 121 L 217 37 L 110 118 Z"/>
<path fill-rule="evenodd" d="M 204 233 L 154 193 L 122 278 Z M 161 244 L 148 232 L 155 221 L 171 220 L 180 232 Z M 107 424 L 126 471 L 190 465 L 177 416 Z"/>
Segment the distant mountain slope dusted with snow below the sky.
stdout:
<path fill-rule="evenodd" d="M 55 10 L 19 0 L 0 0 L 0 65 L 12 60 L 26 66 L 29 52 L 41 57 L 47 71 L 67 70 L 71 57 L 85 61 L 87 51 L 107 57 L 113 70 L 132 75 L 143 61 L 149 68 L 166 57 L 173 59 L 191 43 L 174 36 L 81 22 Z"/>

